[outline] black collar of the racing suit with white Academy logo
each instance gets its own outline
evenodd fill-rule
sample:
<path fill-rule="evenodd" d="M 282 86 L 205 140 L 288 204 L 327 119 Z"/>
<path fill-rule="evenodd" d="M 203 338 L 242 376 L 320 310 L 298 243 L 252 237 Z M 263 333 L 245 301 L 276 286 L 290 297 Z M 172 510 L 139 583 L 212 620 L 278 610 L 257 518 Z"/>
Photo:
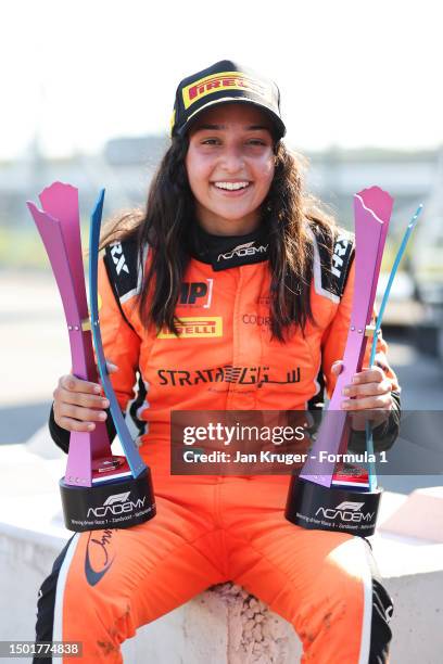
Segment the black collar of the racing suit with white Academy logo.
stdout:
<path fill-rule="evenodd" d="M 269 235 L 265 226 L 246 235 L 213 235 L 195 221 L 189 240 L 191 256 L 212 265 L 215 271 L 262 263 L 269 257 Z"/>

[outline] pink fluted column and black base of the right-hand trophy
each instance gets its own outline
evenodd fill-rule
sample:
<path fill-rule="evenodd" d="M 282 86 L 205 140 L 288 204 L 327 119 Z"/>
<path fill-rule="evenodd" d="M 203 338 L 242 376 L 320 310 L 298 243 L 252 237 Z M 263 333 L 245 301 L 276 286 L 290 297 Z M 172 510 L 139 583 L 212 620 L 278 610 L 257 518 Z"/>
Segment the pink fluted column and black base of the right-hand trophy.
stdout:
<path fill-rule="evenodd" d="M 363 537 L 375 532 L 381 489 L 336 482 L 334 470 L 337 456 L 347 450 L 351 433 L 347 412 L 341 409 L 346 398 L 342 390 L 360 371 L 368 337 L 375 333 L 370 321 L 392 206 L 393 199 L 378 187 L 354 195 L 355 286 L 344 367 L 308 458 L 300 475 L 291 477 L 286 507 L 286 518 L 305 528 Z"/>

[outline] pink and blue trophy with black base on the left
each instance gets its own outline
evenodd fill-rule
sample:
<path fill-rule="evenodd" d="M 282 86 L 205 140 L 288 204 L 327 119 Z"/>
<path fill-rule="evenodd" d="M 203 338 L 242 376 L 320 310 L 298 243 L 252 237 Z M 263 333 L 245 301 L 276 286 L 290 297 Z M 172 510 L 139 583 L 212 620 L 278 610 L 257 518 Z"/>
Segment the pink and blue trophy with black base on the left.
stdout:
<path fill-rule="evenodd" d="M 88 432 L 72 432 L 66 473 L 60 481 L 65 525 L 75 532 L 127 528 L 155 515 L 150 469 L 142 461 L 106 374 L 97 304 L 97 261 L 104 191 L 91 217 L 89 317 L 81 257 L 78 191 L 54 182 L 40 195 L 42 209 L 27 206 L 47 250 L 65 312 L 73 373 L 98 382 L 96 342 L 103 388 L 111 404 L 125 457 L 113 455 L 104 422 Z M 91 324 L 92 323 L 92 324 Z"/>

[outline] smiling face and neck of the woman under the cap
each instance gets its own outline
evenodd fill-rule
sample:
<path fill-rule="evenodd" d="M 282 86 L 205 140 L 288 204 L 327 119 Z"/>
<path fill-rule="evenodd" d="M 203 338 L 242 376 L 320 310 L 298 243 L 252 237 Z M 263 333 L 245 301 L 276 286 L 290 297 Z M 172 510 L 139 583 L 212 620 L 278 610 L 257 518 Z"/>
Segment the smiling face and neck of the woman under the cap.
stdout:
<path fill-rule="evenodd" d="M 197 218 L 210 233 L 243 235 L 260 225 L 274 177 L 267 115 L 251 104 L 220 104 L 195 122 L 186 169 Z"/>

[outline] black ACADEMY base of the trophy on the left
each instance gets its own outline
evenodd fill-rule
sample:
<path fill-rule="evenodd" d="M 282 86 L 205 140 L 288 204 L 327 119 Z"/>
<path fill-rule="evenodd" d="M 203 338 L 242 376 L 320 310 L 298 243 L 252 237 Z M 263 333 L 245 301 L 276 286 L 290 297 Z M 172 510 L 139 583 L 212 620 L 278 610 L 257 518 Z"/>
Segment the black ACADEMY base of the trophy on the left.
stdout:
<path fill-rule="evenodd" d="M 68 531 L 130 528 L 155 516 L 151 471 L 138 477 L 125 477 L 87 487 L 60 480 L 65 526 Z"/>

